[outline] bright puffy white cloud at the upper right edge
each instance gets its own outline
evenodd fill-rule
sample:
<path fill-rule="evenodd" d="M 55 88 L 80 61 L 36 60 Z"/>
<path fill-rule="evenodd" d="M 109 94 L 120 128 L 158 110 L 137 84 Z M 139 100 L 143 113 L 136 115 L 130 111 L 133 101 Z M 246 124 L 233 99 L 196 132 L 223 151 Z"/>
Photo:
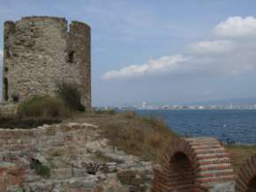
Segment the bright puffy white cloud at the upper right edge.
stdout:
<path fill-rule="evenodd" d="M 217 36 L 224 38 L 256 37 L 256 18 L 230 17 L 214 28 Z"/>

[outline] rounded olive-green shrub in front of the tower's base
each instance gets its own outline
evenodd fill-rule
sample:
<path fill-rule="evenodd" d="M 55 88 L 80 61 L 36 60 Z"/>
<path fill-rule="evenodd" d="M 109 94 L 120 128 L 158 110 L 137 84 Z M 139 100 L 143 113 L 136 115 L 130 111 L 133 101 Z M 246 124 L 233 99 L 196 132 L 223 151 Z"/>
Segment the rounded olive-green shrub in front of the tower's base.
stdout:
<path fill-rule="evenodd" d="M 21 117 L 56 118 L 67 114 L 64 101 L 52 97 L 36 96 L 22 102 L 18 113 Z"/>

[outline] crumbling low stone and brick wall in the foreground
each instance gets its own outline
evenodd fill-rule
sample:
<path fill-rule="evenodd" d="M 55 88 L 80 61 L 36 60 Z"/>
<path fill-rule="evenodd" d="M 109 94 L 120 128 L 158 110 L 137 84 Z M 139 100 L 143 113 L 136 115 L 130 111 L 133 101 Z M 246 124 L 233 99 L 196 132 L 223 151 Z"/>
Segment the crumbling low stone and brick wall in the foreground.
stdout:
<path fill-rule="evenodd" d="M 86 122 L 0 129 L 0 191 L 149 191 L 151 163 L 113 151 L 101 135 Z M 49 168 L 48 178 L 34 161 Z"/>

